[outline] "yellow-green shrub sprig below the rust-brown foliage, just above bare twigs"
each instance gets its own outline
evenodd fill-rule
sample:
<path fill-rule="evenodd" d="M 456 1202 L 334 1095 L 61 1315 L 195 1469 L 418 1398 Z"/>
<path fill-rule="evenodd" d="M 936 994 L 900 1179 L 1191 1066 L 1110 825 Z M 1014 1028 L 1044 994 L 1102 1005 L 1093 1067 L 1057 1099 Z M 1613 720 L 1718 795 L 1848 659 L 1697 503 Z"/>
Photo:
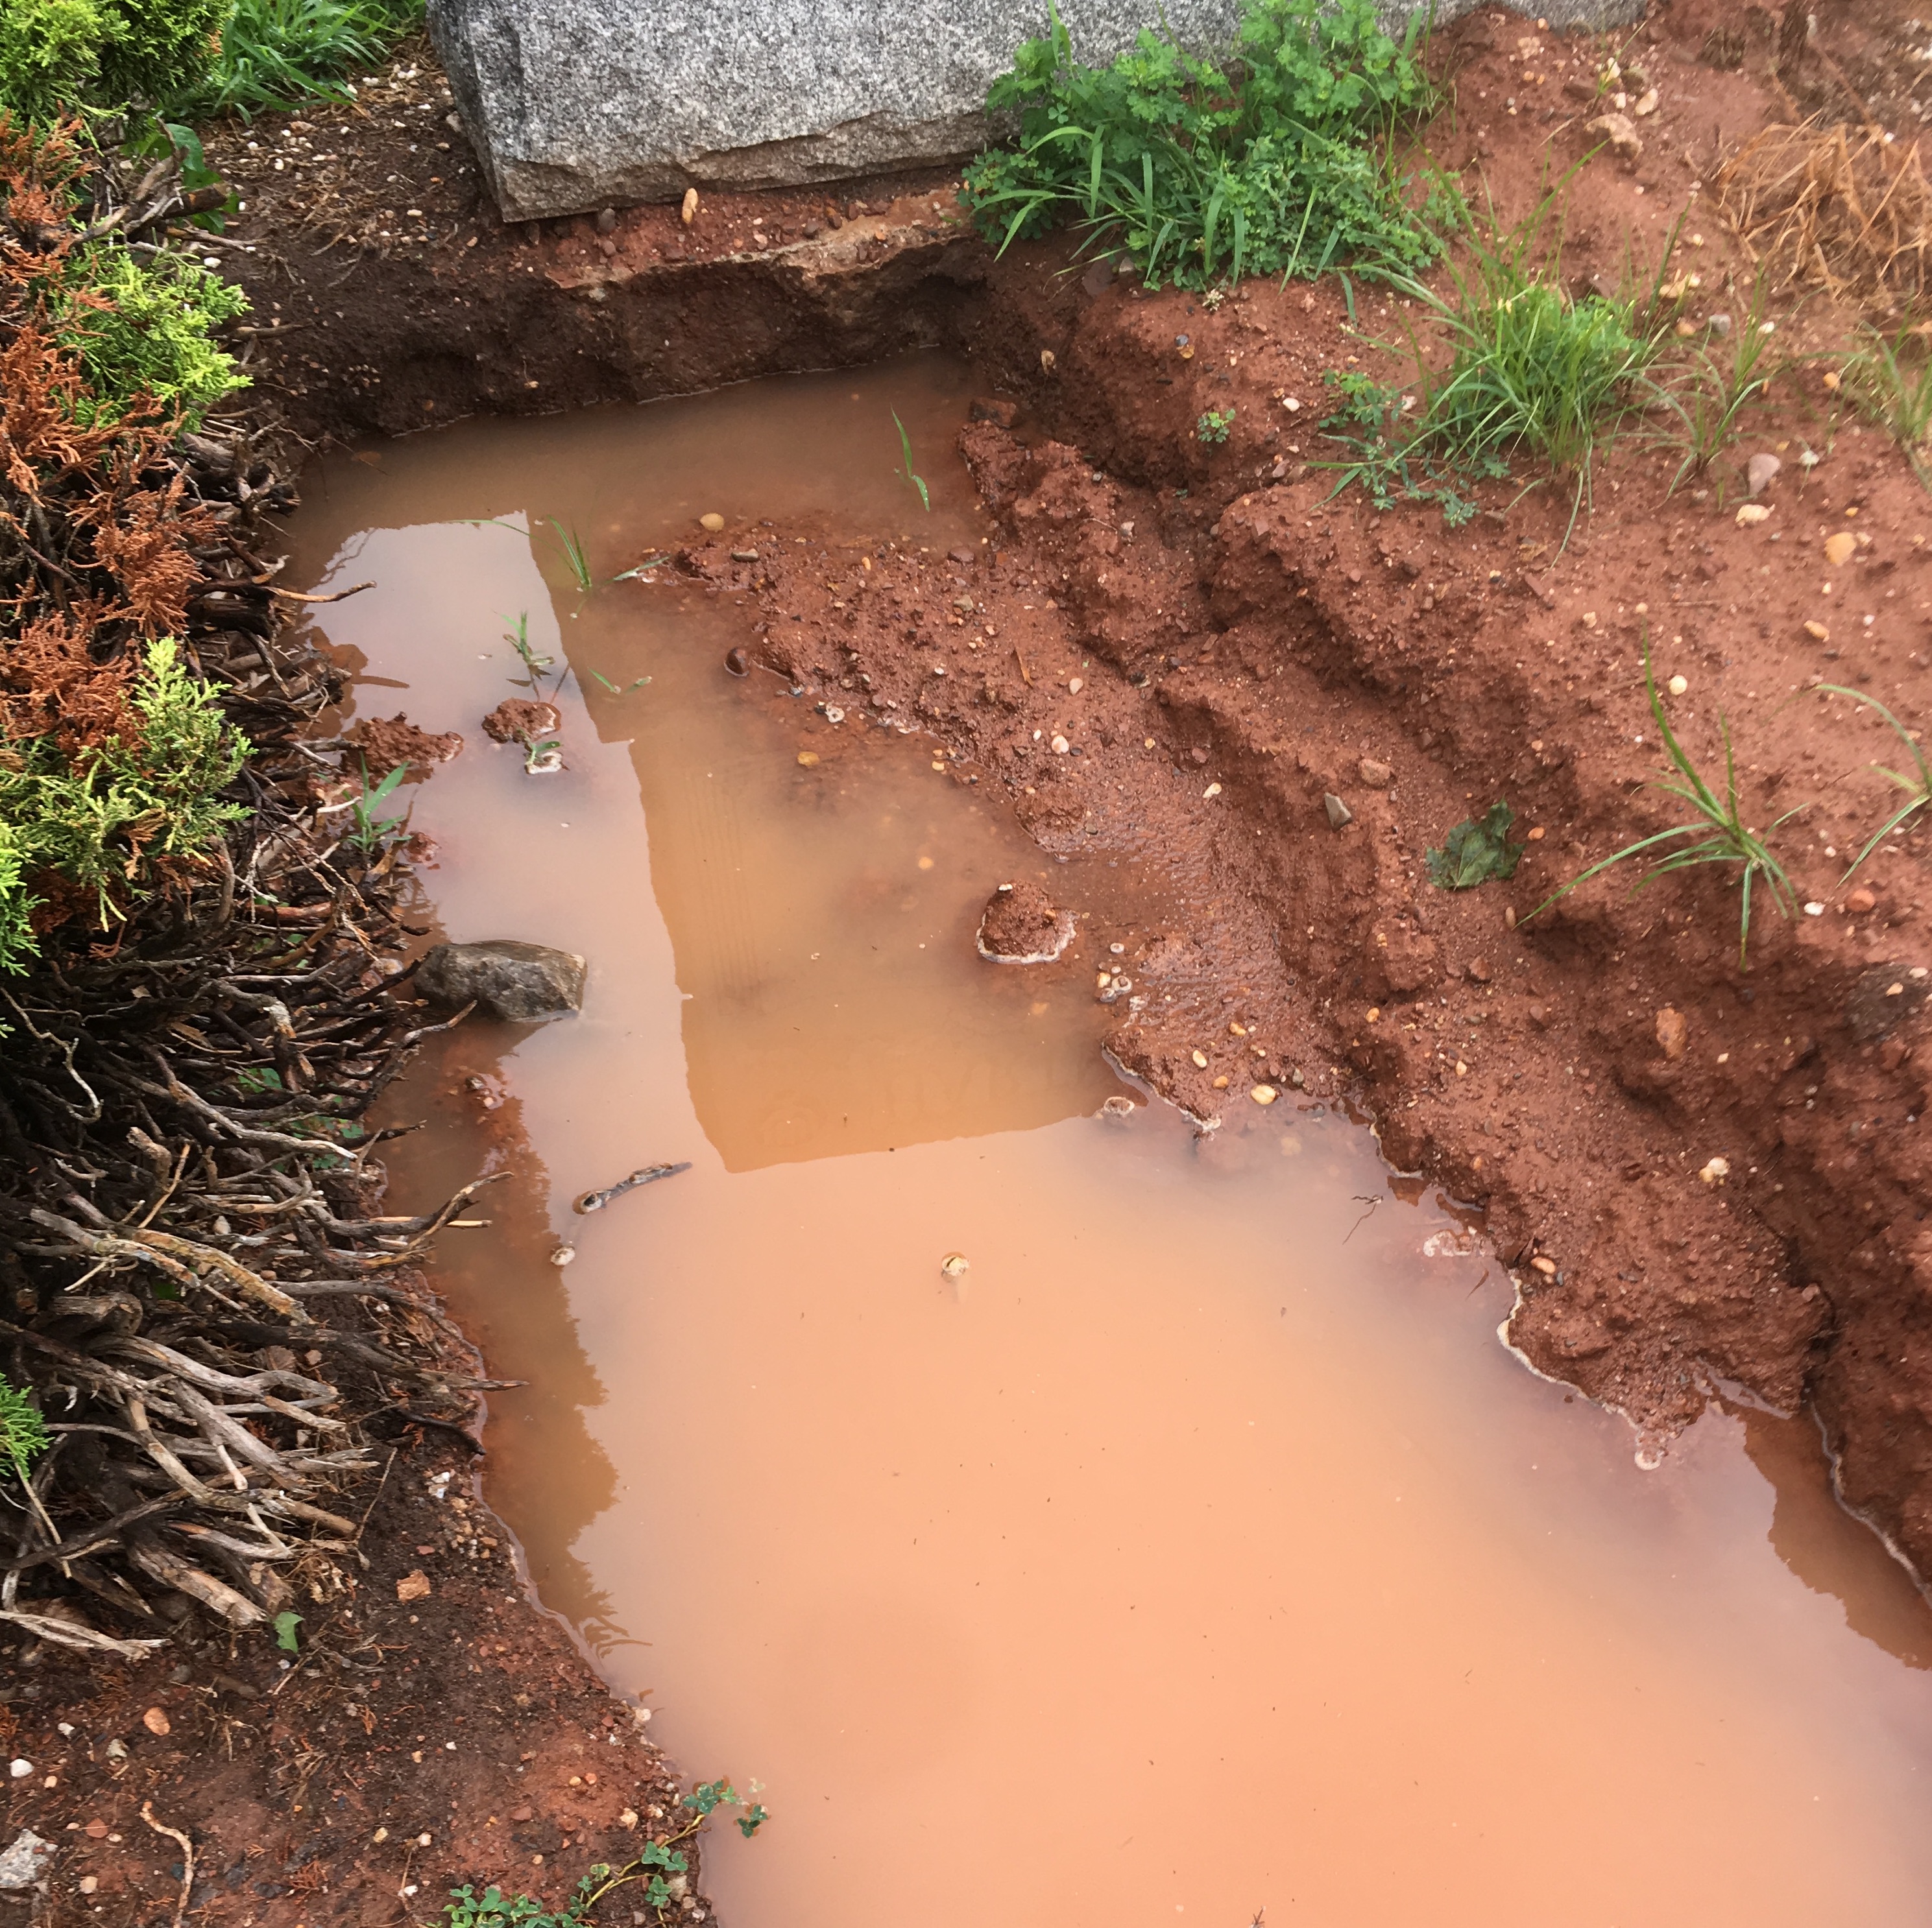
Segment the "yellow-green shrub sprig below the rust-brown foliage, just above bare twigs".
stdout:
<path fill-rule="evenodd" d="M 133 742 L 116 736 L 70 755 L 43 736 L 0 761 L 0 970 L 25 970 L 39 950 L 39 873 L 89 893 L 104 927 L 124 916 L 122 898 L 201 862 L 243 815 L 220 792 L 240 773 L 247 740 L 180 666 L 174 638 L 147 645 L 129 705 L 139 719 Z"/>

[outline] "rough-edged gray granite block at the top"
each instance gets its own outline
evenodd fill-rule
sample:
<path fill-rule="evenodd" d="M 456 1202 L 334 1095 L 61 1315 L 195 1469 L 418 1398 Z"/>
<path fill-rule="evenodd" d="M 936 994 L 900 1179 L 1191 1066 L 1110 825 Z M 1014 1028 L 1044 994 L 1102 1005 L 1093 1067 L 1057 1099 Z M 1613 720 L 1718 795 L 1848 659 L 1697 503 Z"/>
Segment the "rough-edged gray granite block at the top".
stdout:
<path fill-rule="evenodd" d="M 1470 0 L 1437 4 L 1437 19 Z M 1202 50 L 1236 0 L 1065 0 L 1082 60 L 1165 14 Z M 1551 25 L 1642 0 L 1548 0 Z M 429 0 L 429 27 L 512 220 L 947 162 L 985 141 L 985 91 L 1045 0 Z"/>

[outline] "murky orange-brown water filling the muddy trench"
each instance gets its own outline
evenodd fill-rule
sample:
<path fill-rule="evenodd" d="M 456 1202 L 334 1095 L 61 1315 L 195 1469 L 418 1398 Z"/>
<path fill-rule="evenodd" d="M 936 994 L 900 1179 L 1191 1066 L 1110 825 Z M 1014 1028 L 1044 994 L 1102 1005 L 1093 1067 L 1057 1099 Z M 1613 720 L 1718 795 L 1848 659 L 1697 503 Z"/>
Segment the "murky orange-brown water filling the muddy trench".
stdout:
<path fill-rule="evenodd" d="M 748 547 L 976 539 L 968 381 L 462 427 L 332 464 L 298 531 L 307 580 L 379 583 L 327 610 L 361 707 L 469 736 L 412 792 L 444 929 L 591 958 L 582 1018 L 454 1035 L 392 1169 L 412 1209 L 516 1173 L 439 1281 L 531 1379 L 489 1495 L 653 1733 L 763 1781 L 724 1918 L 1932 1918 L 1932 1615 L 1806 1424 L 1638 1472 L 1358 1126 L 1095 1117 L 1094 937 L 1001 970 L 974 920 L 1014 875 L 1130 920 L 1157 875 L 1049 864 L 927 742 L 730 680 L 728 599 L 580 597 L 541 531 L 462 525 L 556 516 L 599 576 L 711 508 Z M 477 730 L 518 610 L 574 670 L 562 775 Z M 659 1159 L 694 1169 L 572 1215 Z"/>

